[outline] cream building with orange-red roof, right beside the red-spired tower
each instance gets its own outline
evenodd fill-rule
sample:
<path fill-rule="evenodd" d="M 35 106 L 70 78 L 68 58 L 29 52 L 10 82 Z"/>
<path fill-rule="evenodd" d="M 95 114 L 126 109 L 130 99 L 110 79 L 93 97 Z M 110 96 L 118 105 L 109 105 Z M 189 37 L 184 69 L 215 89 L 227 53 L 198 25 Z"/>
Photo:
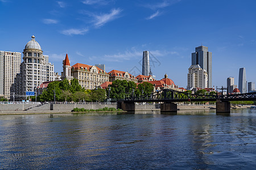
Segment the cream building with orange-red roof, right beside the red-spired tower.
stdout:
<path fill-rule="evenodd" d="M 109 74 L 97 66 L 76 63 L 71 67 L 71 76 L 79 80 L 85 89 L 95 89 L 104 82 L 109 81 Z"/>

